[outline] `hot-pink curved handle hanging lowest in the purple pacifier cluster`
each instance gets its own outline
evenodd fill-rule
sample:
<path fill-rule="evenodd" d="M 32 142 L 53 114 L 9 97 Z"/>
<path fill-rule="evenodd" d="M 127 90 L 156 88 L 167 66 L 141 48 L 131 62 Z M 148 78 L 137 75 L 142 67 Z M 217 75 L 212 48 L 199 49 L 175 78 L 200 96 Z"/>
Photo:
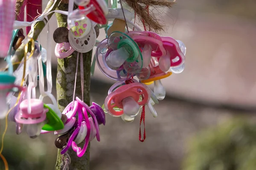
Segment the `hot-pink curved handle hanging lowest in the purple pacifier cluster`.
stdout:
<path fill-rule="evenodd" d="M 81 112 L 81 109 L 79 109 L 79 112 Z M 84 121 L 85 121 L 86 126 L 87 126 L 87 134 L 86 134 L 86 137 L 85 137 L 85 143 L 84 143 L 83 149 L 81 149 L 81 147 L 78 147 L 76 142 L 74 142 L 74 141 L 72 142 L 72 148 L 73 148 L 74 151 L 76 151 L 76 155 L 78 157 L 83 156 L 84 153 L 87 150 L 87 147 L 88 147 L 88 144 L 89 144 L 89 138 L 90 138 L 90 129 L 91 129 L 89 118 L 88 118 L 86 109 L 84 107 L 82 108 L 82 112 L 84 114 Z"/>

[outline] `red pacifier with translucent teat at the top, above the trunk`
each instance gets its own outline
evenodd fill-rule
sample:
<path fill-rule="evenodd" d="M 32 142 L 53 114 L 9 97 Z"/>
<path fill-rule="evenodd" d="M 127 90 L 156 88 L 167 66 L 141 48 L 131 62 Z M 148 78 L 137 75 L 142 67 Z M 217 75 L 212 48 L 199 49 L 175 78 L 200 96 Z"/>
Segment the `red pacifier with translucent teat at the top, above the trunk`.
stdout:
<path fill-rule="evenodd" d="M 73 11 L 76 13 L 77 18 L 81 18 L 82 15 L 86 15 L 90 20 L 96 23 L 107 23 L 105 15 L 108 14 L 108 5 L 105 0 L 90 0 L 85 7 L 79 6 L 79 9 L 79 11 Z"/>

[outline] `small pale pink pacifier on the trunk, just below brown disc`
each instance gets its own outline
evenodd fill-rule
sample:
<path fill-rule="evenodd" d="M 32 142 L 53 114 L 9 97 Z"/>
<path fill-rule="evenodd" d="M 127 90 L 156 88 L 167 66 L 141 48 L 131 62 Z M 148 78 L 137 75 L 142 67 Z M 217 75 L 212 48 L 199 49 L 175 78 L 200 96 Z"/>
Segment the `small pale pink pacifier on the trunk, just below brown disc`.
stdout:
<path fill-rule="evenodd" d="M 60 59 L 70 56 L 74 51 L 69 42 L 57 43 L 55 46 L 55 55 Z"/>

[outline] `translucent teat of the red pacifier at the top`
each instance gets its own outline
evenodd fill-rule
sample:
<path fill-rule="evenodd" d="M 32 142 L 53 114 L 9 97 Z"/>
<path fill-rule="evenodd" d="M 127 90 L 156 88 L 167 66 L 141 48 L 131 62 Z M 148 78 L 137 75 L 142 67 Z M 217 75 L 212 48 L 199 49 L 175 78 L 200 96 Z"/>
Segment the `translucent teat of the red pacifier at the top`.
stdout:
<path fill-rule="evenodd" d="M 86 15 L 95 9 L 96 8 L 93 5 L 91 5 L 88 8 L 76 9 L 76 10 L 72 11 L 67 16 L 67 25 L 69 26 L 69 28 L 73 28 L 74 26 L 76 26 L 75 25 L 76 21 L 84 20 Z"/>

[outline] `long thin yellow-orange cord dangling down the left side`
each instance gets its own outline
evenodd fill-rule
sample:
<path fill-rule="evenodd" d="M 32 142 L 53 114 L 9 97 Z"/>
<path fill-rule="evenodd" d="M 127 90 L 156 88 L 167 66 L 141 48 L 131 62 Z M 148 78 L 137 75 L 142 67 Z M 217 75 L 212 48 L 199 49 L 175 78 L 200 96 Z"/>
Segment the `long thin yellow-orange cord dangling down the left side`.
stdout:
<path fill-rule="evenodd" d="M 35 47 L 35 42 L 34 42 L 34 40 L 32 39 L 31 41 L 32 41 L 32 43 L 31 43 L 31 44 L 32 44 L 32 48 L 31 48 L 31 53 L 30 53 L 29 58 L 32 57 L 32 55 L 34 54 L 34 47 Z M 22 80 L 21 80 L 20 86 L 23 86 L 24 80 L 25 80 L 25 74 L 26 74 L 26 60 L 27 60 L 27 57 L 26 57 L 26 56 L 27 56 L 27 53 L 28 53 L 28 43 L 25 45 L 23 76 L 22 76 Z M 12 108 L 10 108 L 9 111 L 7 112 L 7 114 L 6 114 L 6 121 L 5 121 L 5 122 L 6 122 L 6 126 L 5 126 L 5 129 L 4 129 L 3 135 L 2 135 L 2 144 L 1 144 L 1 149 L 0 149 L 0 157 L 3 159 L 3 163 L 4 163 L 4 166 L 5 166 L 5 170 L 9 170 L 9 167 L 8 167 L 8 162 L 6 161 L 5 157 L 2 155 L 2 151 L 3 151 L 3 139 L 4 139 L 4 136 L 5 136 L 5 134 L 6 134 L 7 127 L 8 127 L 8 115 L 9 115 L 10 111 L 11 111 L 12 109 L 14 109 L 14 108 L 17 106 L 17 104 L 18 104 L 18 102 L 19 102 L 19 100 L 20 100 L 20 95 L 21 95 L 21 92 L 19 93 L 19 95 L 18 95 L 18 97 L 17 97 L 17 102 L 15 103 L 15 105 L 12 106 Z"/>

